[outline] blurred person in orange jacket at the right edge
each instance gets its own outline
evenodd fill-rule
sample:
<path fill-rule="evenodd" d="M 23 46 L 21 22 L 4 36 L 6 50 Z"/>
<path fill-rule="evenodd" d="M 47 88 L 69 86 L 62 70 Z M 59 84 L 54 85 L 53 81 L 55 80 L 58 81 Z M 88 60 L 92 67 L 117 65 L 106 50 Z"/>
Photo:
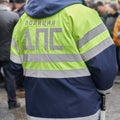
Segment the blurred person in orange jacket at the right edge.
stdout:
<path fill-rule="evenodd" d="M 113 30 L 113 40 L 114 43 L 116 44 L 117 63 L 120 71 L 120 0 L 118 0 L 117 8 L 118 8 L 119 16 L 115 22 L 115 27 Z"/>

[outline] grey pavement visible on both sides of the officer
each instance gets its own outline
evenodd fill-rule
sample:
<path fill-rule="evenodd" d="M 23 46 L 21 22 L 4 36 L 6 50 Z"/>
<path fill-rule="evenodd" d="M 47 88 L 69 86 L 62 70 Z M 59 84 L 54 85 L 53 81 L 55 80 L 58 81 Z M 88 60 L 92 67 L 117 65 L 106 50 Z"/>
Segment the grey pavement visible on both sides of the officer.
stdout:
<path fill-rule="evenodd" d="M 117 77 L 111 94 L 107 95 L 106 120 L 120 120 L 120 77 Z M 4 89 L 0 89 L 0 120 L 27 120 L 24 98 L 17 98 L 21 108 L 8 110 L 7 95 Z"/>

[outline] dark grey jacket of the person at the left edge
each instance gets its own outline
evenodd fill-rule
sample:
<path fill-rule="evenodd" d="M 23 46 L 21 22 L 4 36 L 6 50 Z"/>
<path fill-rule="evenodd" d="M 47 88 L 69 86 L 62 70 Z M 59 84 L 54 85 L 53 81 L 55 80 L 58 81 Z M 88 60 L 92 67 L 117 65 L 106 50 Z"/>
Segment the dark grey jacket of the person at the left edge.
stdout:
<path fill-rule="evenodd" d="M 0 61 L 10 59 L 12 32 L 19 17 L 5 5 L 0 4 Z"/>

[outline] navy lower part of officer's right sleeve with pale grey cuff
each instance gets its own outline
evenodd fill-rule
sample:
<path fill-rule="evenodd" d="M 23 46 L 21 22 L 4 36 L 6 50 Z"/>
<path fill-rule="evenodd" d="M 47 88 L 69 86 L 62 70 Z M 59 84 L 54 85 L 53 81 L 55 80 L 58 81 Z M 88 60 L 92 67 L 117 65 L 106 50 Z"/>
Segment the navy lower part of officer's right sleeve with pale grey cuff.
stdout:
<path fill-rule="evenodd" d="M 94 58 L 86 61 L 99 93 L 109 93 L 117 72 L 115 46 L 111 45 Z"/>

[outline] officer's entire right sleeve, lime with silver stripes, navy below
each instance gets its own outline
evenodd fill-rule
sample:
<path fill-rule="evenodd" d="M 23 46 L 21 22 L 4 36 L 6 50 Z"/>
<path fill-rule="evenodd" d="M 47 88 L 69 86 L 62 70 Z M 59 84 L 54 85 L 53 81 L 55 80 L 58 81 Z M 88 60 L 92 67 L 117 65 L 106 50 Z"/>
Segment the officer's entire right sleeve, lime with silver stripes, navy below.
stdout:
<path fill-rule="evenodd" d="M 86 20 L 88 31 L 78 41 L 78 48 L 96 89 L 99 93 L 106 94 L 112 88 L 117 73 L 116 50 L 104 23 L 97 14 L 93 16 Z"/>

